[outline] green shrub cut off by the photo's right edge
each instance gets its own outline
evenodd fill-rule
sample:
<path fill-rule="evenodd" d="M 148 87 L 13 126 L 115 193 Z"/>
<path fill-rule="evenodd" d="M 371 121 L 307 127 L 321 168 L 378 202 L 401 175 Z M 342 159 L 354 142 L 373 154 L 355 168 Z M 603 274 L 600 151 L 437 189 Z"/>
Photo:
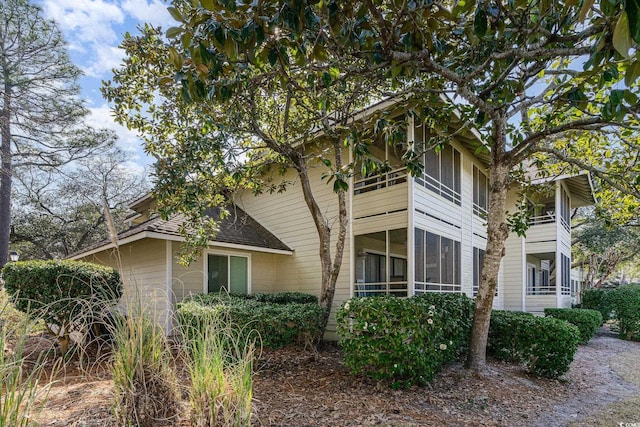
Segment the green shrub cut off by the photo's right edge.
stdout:
<path fill-rule="evenodd" d="M 620 286 L 610 292 L 609 301 L 618 321 L 620 338 L 640 341 L 640 286 Z"/>

